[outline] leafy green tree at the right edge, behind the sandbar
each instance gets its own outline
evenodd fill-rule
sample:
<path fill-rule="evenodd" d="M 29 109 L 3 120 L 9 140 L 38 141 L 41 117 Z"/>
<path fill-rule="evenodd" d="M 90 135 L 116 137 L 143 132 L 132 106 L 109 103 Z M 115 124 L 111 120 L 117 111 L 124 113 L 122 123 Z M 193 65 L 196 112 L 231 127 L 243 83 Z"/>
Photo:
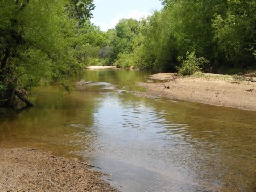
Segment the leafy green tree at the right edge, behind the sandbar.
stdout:
<path fill-rule="evenodd" d="M 228 1 L 227 14 L 212 19 L 214 41 L 229 67 L 256 67 L 255 11 L 255 1 Z"/>

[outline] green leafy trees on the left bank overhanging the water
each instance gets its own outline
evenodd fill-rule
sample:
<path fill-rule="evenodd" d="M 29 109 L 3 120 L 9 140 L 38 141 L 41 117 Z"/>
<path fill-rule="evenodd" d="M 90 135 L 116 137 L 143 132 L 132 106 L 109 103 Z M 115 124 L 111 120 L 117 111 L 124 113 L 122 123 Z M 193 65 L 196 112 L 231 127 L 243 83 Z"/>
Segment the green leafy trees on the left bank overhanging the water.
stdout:
<path fill-rule="evenodd" d="M 0 0 L 0 106 L 38 84 L 98 62 L 108 39 L 90 23 L 93 0 Z"/>

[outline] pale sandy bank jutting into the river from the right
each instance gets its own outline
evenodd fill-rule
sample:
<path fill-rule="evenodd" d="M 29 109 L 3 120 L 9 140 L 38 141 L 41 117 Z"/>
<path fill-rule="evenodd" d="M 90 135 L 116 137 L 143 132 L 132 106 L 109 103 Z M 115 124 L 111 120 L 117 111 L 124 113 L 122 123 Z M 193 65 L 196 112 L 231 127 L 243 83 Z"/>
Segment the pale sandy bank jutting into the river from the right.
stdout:
<path fill-rule="evenodd" d="M 211 74 L 202 77 L 177 77 L 174 73 L 150 76 L 160 83 L 138 83 L 146 97 L 167 97 L 217 106 L 256 110 L 256 83 L 231 81 L 231 76 Z"/>

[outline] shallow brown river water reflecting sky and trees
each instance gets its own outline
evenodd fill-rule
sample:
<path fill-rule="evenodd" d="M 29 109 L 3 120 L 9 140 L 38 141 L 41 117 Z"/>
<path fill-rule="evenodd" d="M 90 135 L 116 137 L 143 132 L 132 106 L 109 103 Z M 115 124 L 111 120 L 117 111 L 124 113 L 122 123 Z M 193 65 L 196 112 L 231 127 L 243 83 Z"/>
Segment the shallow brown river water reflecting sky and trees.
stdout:
<path fill-rule="evenodd" d="M 0 143 L 82 157 L 122 191 L 255 191 L 256 113 L 132 94 L 147 75 L 86 70 L 72 81 L 101 83 L 39 87 L 36 107 L 0 119 Z"/>

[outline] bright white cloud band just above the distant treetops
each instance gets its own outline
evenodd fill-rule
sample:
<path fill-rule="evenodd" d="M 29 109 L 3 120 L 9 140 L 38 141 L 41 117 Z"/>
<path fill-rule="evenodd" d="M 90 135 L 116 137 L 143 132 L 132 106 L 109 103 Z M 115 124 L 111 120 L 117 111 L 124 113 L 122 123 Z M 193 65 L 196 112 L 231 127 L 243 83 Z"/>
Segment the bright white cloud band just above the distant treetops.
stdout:
<path fill-rule="evenodd" d="M 125 19 L 136 19 L 136 20 L 140 20 L 141 18 L 146 18 L 148 17 L 148 15 L 151 15 L 150 12 L 146 12 L 146 11 L 138 11 L 138 10 L 131 10 L 129 13 L 127 14 L 118 14 L 114 19 L 112 19 L 109 23 L 102 23 L 102 22 L 97 22 L 97 20 L 95 20 L 94 18 L 92 18 L 92 22 L 97 25 L 100 26 L 102 31 L 107 31 L 108 29 L 112 29 L 115 28 L 116 24 L 119 22 L 120 19 L 125 18 Z"/>

